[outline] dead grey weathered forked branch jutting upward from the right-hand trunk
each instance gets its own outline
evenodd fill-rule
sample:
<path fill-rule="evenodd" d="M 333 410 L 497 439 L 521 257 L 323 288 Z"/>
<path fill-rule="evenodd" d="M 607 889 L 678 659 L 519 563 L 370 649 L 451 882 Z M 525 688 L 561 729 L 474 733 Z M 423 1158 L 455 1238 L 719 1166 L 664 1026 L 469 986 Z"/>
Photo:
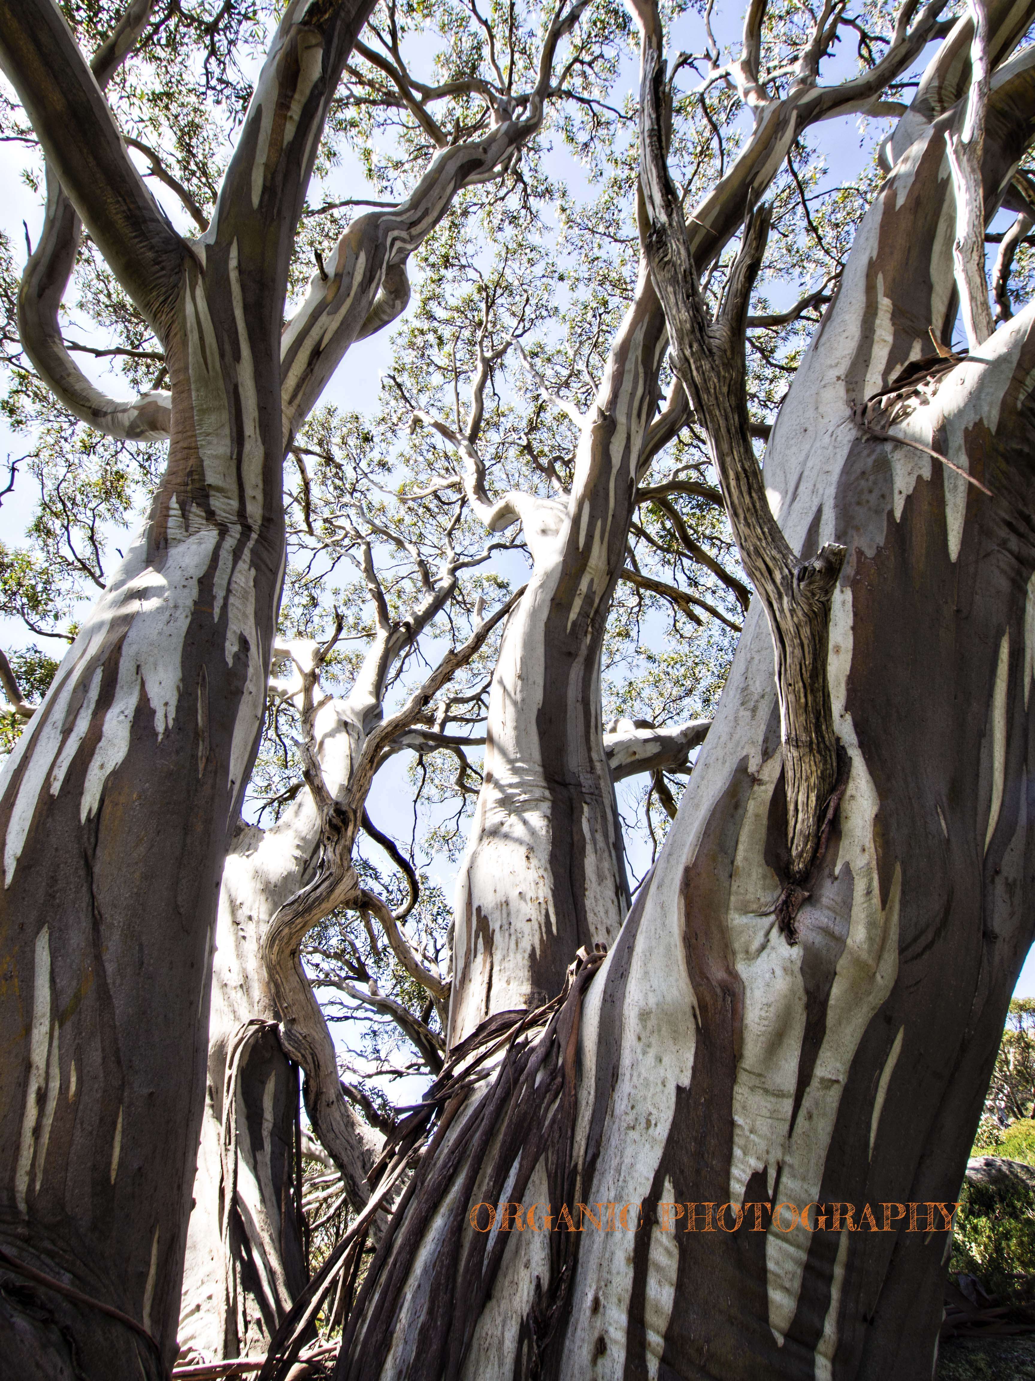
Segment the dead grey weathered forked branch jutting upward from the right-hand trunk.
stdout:
<path fill-rule="evenodd" d="M 788 884 L 800 892 L 838 780 L 827 655 L 831 599 L 845 563 L 845 547 L 828 543 L 811 559 L 802 559 L 788 545 L 769 507 L 751 442 L 744 333 L 771 211 L 760 207 L 748 217 L 719 316 L 712 322 L 664 153 L 665 68 L 657 10 L 640 4 L 633 8 L 643 32 L 640 185 L 650 217 L 647 257 L 665 308 L 672 366 L 708 434 L 744 569 L 769 616 L 784 744 Z M 796 907 L 788 905 L 791 895 L 788 891 L 781 902 L 782 927 L 793 921 Z"/>

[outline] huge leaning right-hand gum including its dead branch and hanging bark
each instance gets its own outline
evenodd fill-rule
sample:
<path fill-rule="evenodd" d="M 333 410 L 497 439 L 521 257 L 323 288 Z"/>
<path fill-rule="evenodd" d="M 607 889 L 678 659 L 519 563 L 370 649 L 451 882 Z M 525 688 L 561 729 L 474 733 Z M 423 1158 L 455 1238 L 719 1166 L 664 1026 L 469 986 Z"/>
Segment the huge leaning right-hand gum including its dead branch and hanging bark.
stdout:
<path fill-rule="evenodd" d="M 749 10 L 722 75 L 760 138 L 843 98 L 818 80 L 836 18 L 806 21 L 781 87 Z M 636 7 L 646 253 L 759 595 L 607 957 L 486 1022 L 400 1130 L 399 1157 L 426 1149 L 339 1377 L 933 1374 L 948 1237 L 800 1210 L 955 1199 L 1032 939 L 1032 309 L 992 330 L 983 264 L 1035 134 L 1031 18 L 938 28 L 759 470 L 742 351 L 769 211 L 745 197 L 705 301 L 661 19 Z M 504 1200 L 642 1204 L 643 1226 L 472 1230 Z M 680 1222 L 693 1204 L 727 1230 Z"/>

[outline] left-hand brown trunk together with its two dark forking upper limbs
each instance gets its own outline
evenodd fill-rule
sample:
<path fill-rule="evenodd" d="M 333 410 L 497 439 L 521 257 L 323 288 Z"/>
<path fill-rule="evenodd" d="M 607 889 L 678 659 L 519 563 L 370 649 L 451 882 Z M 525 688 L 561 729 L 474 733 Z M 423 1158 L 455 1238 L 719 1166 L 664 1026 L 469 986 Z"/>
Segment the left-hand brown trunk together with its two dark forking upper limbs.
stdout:
<path fill-rule="evenodd" d="M 172 398 L 149 521 L 3 776 L 0 1246 L 139 1319 L 167 1363 L 215 899 L 283 569 L 287 264 L 367 10 L 288 6 L 213 225 L 188 249 L 57 6 L 0 4 L 0 58 L 76 214 L 157 331 Z M 34 1290 L 3 1294 L 0 1346 L 25 1377 L 73 1374 L 73 1355 L 91 1375 L 160 1374 L 130 1330 Z"/>

